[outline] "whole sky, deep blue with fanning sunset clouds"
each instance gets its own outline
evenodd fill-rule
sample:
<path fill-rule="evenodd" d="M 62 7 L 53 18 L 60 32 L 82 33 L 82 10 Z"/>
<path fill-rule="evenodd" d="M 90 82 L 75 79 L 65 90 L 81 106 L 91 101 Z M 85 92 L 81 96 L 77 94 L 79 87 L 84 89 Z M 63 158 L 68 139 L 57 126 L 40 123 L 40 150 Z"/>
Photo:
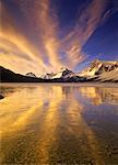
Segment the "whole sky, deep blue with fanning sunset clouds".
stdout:
<path fill-rule="evenodd" d="M 0 65 L 36 75 L 118 61 L 117 0 L 1 0 Z"/>

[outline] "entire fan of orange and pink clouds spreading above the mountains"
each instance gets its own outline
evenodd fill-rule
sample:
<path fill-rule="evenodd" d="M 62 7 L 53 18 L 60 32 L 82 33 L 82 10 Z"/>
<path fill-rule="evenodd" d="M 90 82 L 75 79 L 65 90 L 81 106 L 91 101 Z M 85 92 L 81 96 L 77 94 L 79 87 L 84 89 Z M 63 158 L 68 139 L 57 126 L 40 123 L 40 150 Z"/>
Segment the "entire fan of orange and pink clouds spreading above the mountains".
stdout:
<path fill-rule="evenodd" d="M 105 18 L 106 9 L 106 0 L 92 0 L 80 12 L 72 31 L 60 40 L 59 15 L 51 9 L 50 0 L 12 0 L 12 3 L 24 18 L 25 30 L 19 28 L 15 15 L 2 2 L 0 65 L 20 73 L 32 66 L 28 72 L 35 74 L 56 72 L 62 66 L 73 69 L 85 61 L 87 55 L 83 46 L 102 22 L 103 14 Z M 60 52 L 64 54 L 64 61 Z M 14 64 L 15 67 L 14 61 L 19 64 Z"/>

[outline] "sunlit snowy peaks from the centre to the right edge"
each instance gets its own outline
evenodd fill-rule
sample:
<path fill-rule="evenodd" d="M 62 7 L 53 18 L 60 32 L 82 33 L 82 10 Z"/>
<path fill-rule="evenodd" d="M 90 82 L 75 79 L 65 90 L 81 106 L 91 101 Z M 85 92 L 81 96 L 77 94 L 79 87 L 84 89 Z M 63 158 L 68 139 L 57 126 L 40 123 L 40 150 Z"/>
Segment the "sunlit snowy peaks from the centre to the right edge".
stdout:
<path fill-rule="evenodd" d="M 68 68 L 62 67 L 57 73 L 45 74 L 43 79 L 62 79 L 63 81 L 117 81 L 118 80 L 118 62 L 106 62 L 95 59 L 90 67 L 80 74 L 75 74 Z"/>

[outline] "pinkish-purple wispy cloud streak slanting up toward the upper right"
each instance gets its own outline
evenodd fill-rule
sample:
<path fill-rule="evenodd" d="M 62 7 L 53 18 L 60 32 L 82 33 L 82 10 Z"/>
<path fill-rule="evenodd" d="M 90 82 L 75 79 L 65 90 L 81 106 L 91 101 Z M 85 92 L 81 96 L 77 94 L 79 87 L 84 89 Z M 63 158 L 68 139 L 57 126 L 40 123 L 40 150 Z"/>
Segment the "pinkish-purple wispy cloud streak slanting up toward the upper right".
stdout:
<path fill-rule="evenodd" d="M 67 47 L 67 56 L 71 61 L 70 66 L 73 67 L 87 57 L 82 51 L 83 45 L 101 23 L 105 8 L 106 0 L 93 0 L 80 12 L 72 32 L 62 41 L 62 44 Z"/>

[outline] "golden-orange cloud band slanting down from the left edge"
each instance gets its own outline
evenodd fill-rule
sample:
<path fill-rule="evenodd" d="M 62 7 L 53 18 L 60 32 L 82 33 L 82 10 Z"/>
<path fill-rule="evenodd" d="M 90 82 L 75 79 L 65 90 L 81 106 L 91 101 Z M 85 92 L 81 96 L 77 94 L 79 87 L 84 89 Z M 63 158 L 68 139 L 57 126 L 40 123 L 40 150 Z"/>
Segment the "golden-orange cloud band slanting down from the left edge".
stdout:
<path fill-rule="evenodd" d="M 35 68 L 38 68 L 39 72 L 46 70 L 47 66 L 44 63 L 44 59 L 39 55 L 39 51 L 30 43 L 30 41 L 22 35 L 15 28 L 12 22 L 12 19 L 8 16 L 7 11 L 2 7 L 2 23 L 0 25 L 0 50 L 4 50 L 3 52 L 12 52 L 14 53 L 15 48 L 17 50 L 15 56 L 27 61 L 31 59 L 30 63 L 35 65 Z M 7 24 L 4 22 L 7 21 Z M 2 54 L 2 57 L 7 56 L 8 61 L 13 61 L 10 55 Z M 9 59 L 10 58 L 10 59 Z M 2 64 L 3 58 L 0 61 L 0 65 Z M 25 61 L 24 61 L 25 62 Z M 17 62 L 19 63 L 19 62 Z M 28 63 L 25 63 L 26 65 Z M 17 65 L 22 69 L 22 65 Z"/>

